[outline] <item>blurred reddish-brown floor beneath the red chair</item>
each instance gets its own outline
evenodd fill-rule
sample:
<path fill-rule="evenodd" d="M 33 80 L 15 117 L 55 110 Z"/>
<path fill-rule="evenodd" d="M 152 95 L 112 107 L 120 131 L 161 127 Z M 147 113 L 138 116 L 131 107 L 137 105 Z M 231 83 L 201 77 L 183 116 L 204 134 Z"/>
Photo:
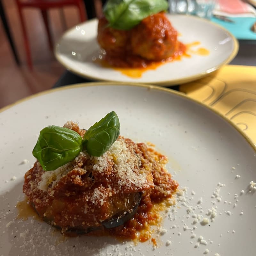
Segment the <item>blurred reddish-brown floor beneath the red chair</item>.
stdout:
<path fill-rule="evenodd" d="M 14 0 L 2 0 L 9 21 L 12 36 L 21 60 L 17 66 L 11 48 L 0 22 L 0 108 L 26 96 L 50 89 L 65 71 L 54 58 L 47 43 L 44 24 L 36 9 L 24 10 L 30 41 L 34 70 L 26 64 L 23 37 L 18 12 Z M 59 10 L 50 10 L 52 36 L 56 42 L 64 33 Z M 73 7 L 64 9 L 67 27 L 79 22 L 77 11 Z"/>

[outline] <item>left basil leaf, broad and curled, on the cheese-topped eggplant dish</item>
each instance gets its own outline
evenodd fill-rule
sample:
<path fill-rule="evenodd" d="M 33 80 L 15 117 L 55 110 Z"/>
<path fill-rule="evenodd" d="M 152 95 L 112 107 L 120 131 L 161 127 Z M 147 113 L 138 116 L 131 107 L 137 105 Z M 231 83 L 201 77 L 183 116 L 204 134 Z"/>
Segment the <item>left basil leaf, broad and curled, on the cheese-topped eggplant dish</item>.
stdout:
<path fill-rule="evenodd" d="M 82 151 L 82 143 L 77 132 L 52 125 L 40 132 L 32 153 L 44 171 L 52 171 L 73 160 Z"/>

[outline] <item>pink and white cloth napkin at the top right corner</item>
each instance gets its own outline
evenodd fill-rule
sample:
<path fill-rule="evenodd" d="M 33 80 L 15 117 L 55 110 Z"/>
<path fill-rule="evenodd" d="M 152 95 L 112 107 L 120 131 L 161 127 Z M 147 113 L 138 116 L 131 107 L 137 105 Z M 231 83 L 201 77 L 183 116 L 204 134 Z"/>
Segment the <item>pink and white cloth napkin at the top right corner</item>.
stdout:
<path fill-rule="evenodd" d="M 213 14 L 228 17 L 256 17 L 256 9 L 243 0 L 218 0 Z"/>

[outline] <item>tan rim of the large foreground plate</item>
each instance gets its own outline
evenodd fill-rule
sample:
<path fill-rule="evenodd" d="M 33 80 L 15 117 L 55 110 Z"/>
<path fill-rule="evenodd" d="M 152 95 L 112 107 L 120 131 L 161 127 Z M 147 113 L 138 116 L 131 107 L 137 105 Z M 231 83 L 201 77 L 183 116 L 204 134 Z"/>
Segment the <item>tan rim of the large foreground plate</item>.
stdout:
<path fill-rule="evenodd" d="M 32 94 L 30 96 L 27 96 L 23 99 L 17 100 L 16 102 L 9 104 L 3 108 L 0 108 L 0 114 L 3 113 L 5 110 L 10 109 L 16 105 L 19 105 L 25 101 L 28 101 L 30 99 L 34 99 L 36 97 L 45 95 L 45 94 L 50 94 L 52 92 L 58 92 L 58 91 L 65 91 L 65 90 L 70 90 L 73 88 L 81 88 L 81 87 L 93 87 L 93 86 L 110 86 L 110 85 L 114 85 L 114 86 L 134 86 L 134 87 L 142 87 L 142 88 L 147 88 L 148 90 L 156 90 L 156 91 L 162 91 L 162 92 L 167 92 L 171 95 L 176 95 L 179 96 L 181 98 L 185 98 L 189 101 L 192 101 L 194 103 L 197 103 L 198 105 L 200 105 L 203 108 L 206 108 L 210 111 L 212 111 L 213 113 L 215 113 L 217 116 L 220 116 L 224 121 L 228 122 L 228 124 L 230 124 L 231 126 L 233 126 L 237 132 L 239 132 L 244 139 L 247 141 L 247 143 L 251 146 L 251 148 L 255 151 L 256 153 L 256 145 L 253 143 L 253 141 L 250 139 L 249 136 L 247 136 L 243 130 L 241 128 L 239 128 L 236 124 L 234 124 L 230 119 L 228 119 L 228 117 L 224 116 L 222 113 L 218 112 L 216 109 L 211 108 L 208 105 L 205 105 L 204 103 L 202 103 L 199 100 L 190 98 L 189 96 L 187 96 L 185 93 L 182 92 L 178 92 L 175 91 L 173 89 L 170 88 L 165 88 L 162 86 L 158 86 L 158 85 L 150 85 L 150 84 L 140 84 L 140 83 L 128 83 L 128 82 L 88 82 L 88 83 L 79 83 L 79 84 L 69 84 L 66 86 L 61 86 L 61 87 L 56 87 L 56 88 L 52 88 L 52 89 L 48 89 L 42 92 L 38 92 L 35 94 Z"/>

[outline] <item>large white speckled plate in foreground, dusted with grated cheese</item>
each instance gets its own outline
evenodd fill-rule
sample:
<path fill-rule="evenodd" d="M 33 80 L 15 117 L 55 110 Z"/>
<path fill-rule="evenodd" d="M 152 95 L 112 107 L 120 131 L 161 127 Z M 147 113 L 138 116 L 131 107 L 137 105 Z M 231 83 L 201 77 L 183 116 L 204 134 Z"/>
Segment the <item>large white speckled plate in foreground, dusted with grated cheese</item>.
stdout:
<path fill-rule="evenodd" d="M 170 209 L 164 218 L 161 234 L 153 234 L 159 236 L 156 249 L 150 242 L 134 246 L 133 242 L 111 237 L 64 239 L 44 222 L 16 220 L 15 205 L 24 198 L 23 176 L 35 161 L 31 152 L 39 131 L 68 120 L 79 121 L 87 128 L 111 110 L 120 118 L 121 134 L 137 142 L 154 143 L 169 157 L 167 168 L 180 188 L 187 187 L 183 195 L 187 200 L 182 203 L 181 196 L 174 211 Z M 0 129 L 0 255 L 198 256 L 206 249 L 211 256 L 240 256 L 244 250 L 246 255 L 255 254 L 256 193 L 249 193 L 248 187 L 251 180 L 256 181 L 255 147 L 227 120 L 184 95 L 161 87 L 129 84 L 64 87 L 3 109 Z M 29 163 L 21 164 L 24 159 Z M 219 182 L 225 186 L 220 188 Z M 218 188 L 220 202 L 212 198 Z M 216 207 L 214 222 L 191 224 L 193 214 L 210 220 L 207 213 L 211 207 Z M 186 226 L 196 227 L 195 238 Z M 195 248 L 199 236 L 207 245 Z M 168 245 L 167 241 L 172 243 Z"/>

